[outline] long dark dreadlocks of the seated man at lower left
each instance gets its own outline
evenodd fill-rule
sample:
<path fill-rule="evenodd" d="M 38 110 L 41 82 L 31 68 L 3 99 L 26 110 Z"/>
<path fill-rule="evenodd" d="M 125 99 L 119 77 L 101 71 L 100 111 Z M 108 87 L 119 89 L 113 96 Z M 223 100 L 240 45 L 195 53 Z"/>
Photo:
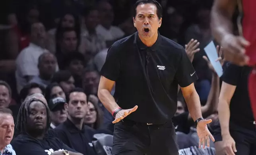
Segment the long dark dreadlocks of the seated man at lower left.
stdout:
<path fill-rule="evenodd" d="M 44 103 L 43 101 L 37 99 L 37 98 L 30 98 L 29 100 L 25 100 L 19 108 L 19 113 L 17 116 L 17 130 L 20 131 L 21 133 L 27 133 L 27 128 L 26 128 L 26 123 L 27 123 L 27 117 L 29 115 L 29 106 L 33 102 L 41 102 L 45 105 L 46 112 L 47 112 L 47 127 L 45 131 L 47 131 L 50 127 L 50 109 L 47 105 L 47 103 Z"/>

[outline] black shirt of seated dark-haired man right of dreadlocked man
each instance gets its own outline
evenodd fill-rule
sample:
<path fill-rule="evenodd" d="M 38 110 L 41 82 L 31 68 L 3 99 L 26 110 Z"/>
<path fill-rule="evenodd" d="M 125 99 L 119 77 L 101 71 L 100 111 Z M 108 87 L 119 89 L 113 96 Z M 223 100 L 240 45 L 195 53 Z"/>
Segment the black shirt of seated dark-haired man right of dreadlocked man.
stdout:
<path fill-rule="evenodd" d="M 95 130 L 84 125 L 82 130 L 79 130 L 69 119 L 58 125 L 54 129 L 56 136 L 62 140 L 64 144 L 75 149 L 84 155 L 96 155 L 92 140 Z"/>

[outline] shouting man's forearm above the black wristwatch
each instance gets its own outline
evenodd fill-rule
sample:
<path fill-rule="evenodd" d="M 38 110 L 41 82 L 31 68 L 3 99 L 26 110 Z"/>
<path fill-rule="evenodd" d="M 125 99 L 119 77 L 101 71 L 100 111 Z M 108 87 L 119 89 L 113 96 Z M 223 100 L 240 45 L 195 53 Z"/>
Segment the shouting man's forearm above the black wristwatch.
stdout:
<path fill-rule="evenodd" d="M 200 104 L 200 98 L 198 96 L 198 93 L 194 91 L 189 96 L 184 96 L 184 98 L 186 100 L 188 111 L 192 119 L 196 121 L 196 119 L 202 117 L 201 104 Z"/>

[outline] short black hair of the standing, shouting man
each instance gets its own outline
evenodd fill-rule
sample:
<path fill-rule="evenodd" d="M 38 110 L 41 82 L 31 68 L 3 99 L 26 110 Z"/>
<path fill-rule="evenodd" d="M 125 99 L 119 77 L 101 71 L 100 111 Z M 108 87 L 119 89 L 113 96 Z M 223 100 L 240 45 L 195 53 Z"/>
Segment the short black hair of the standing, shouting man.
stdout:
<path fill-rule="evenodd" d="M 158 19 L 160 19 L 162 17 L 163 8 L 162 8 L 162 6 L 159 2 L 157 2 L 156 0 L 138 0 L 134 4 L 134 10 L 133 10 L 133 17 L 134 18 L 136 17 L 136 14 L 137 14 L 137 7 L 140 4 L 155 4 L 155 6 L 157 7 L 157 17 L 158 17 Z"/>

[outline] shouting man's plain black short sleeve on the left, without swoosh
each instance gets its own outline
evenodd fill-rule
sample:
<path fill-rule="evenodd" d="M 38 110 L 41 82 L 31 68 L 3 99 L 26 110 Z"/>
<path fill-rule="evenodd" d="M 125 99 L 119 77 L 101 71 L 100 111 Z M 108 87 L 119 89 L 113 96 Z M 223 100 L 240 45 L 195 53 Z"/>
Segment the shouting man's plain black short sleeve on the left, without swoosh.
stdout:
<path fill-rule="evenodd" d="M 106 61 L 101 68 L 101 75 L 116 81 L 120 74 L 120 44 L 115 42 L 108 50 Z"/>

